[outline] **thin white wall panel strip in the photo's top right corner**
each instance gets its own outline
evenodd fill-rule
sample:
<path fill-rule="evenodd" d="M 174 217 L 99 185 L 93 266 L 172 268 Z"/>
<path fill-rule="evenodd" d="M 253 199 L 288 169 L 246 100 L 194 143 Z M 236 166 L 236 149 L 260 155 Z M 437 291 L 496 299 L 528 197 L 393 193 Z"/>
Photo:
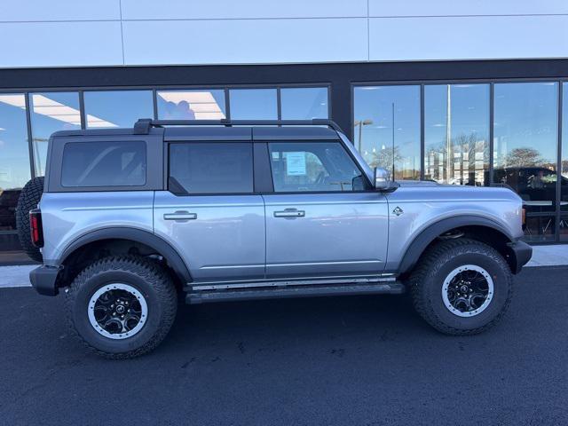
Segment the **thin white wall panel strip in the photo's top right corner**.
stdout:
<path fill-rule="evenodd" d="M 369 0 L 369 16 L 524 15 L 568 13 L 566 0 Z"/>

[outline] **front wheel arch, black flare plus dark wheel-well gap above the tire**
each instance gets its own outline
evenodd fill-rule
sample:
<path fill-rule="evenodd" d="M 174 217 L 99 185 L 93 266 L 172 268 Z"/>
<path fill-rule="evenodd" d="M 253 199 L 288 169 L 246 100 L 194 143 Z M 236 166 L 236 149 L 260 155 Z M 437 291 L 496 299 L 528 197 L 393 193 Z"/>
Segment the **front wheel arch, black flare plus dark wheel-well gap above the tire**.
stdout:
<path fill-rule="evenodd" d="M 406 275 L 414 269 L 414 265 L 422 257 L 431 244 L 442 239 L 467 237 L 485 242 L 501 253 L 511 271 L 517 273 L 515 252 L 509 247 L 514 239 L 507 229 L 492 219 L 479 216 L 448 217 L 423 229 L 406 248 L 405 255 L 398 267 L 399 275 Z"/>

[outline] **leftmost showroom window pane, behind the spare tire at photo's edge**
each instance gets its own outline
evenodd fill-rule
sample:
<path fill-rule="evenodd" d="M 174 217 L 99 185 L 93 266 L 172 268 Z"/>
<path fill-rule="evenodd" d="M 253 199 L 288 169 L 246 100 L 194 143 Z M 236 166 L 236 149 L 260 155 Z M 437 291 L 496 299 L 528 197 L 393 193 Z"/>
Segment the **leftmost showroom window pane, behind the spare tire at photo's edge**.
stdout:
<path fill-rule="evenodd" d="M 0 94 L 0 233 L 15 231 L 20 189 L 29 178 L 26 98 Z"/>

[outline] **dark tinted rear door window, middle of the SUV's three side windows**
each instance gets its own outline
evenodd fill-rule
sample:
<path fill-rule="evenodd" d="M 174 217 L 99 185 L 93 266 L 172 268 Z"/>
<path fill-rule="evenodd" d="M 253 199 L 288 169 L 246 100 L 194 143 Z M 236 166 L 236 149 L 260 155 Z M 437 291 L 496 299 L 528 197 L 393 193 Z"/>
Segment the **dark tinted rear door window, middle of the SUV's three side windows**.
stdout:
<path fill-rule="evenodd" d="M 172 193 L 252 193 L 252 143 L 171 144 L 169 180 Z"/>

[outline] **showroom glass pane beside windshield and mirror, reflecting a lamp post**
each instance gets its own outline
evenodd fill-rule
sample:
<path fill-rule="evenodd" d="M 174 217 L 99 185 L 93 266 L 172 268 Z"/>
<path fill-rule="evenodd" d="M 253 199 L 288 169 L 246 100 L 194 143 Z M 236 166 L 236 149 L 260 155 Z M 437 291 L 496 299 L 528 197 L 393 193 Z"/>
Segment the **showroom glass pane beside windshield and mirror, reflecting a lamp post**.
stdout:
<path fill-rule="evenodd" d="M 420 178 L 420 86 L 356 87 L 354 143 L 365 161 Z"/>

